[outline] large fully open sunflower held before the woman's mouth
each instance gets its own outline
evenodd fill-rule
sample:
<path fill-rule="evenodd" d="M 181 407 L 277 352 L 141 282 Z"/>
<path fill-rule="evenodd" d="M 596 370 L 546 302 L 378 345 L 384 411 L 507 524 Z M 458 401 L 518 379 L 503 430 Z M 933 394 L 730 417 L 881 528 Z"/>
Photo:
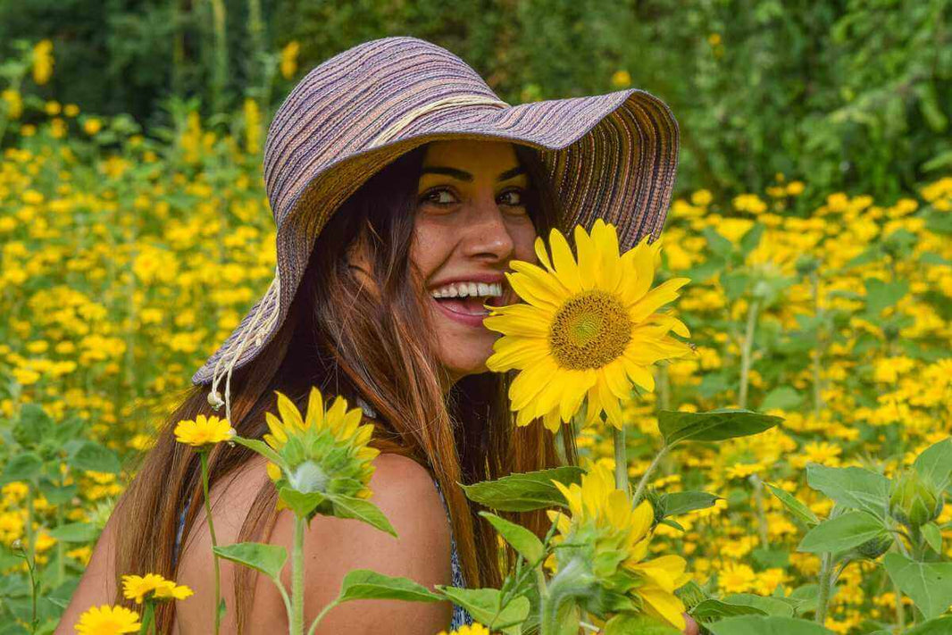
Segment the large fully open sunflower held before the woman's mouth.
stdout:
<path fill-rule="evenodd" d="M 565 236 L 552 229 L 549 258 L 537 238 L 542 267 L 512 261 L 514 272 L 506 273 L 525 304 L 486 307 L 484 325 L 503 334 L 486 367 L 519 370 L 509 388 L 519 426 L 541 417 L 554 432 L 587 398 L 586 426 L 604 412 L 621 428 L 632 384 L 653 390 L 651 365 L 693 353 L 669 335 L 689 337 L 684 323 L 655 312 L 689 282 L 673 278 L 651 288 L 661 241 L 648 244 L 645 237 L 619 255 L 615 228 L 598 219 L 590 235 L 575 228 L 575 245 L 577 261 Z"/>

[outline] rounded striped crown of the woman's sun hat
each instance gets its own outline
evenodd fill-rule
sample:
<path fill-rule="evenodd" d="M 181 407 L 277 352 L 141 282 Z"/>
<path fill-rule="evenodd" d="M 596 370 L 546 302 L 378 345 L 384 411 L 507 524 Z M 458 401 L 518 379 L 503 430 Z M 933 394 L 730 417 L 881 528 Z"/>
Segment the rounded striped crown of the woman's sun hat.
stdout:
<path fill-rule="evenodd" d="M 303 185 L 299 175 L 366 149 L 382 127 L 447 94 L 499 100 L 460 57 L 411 36 L 370 40 L 311 69 L 268 127 L 264 177 L 275 223 Z"/>

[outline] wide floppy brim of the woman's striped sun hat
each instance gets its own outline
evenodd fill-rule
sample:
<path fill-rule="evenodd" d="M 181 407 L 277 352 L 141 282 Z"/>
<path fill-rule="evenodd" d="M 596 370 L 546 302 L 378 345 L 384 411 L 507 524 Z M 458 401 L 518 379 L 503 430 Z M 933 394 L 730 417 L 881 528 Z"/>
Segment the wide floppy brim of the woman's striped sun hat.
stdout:
<path fill-rule="evenodd" d="M 647 234 L 657 237 L 664 225 L 679 131 L 670 109 L 644 90 L 420 117 L 387 143 L 345 154 L 289 189 L 288 211 L 277 221 L 275 280 L 192 383 L 207 384 L 226 361 L 243 367 L 268 345 L 284 322 L 317 234 L 348 196 L 401 154 L 447 138 L 504 140 L 539 150 L 565 228 L 590 228 L 603 218 L 618 228 L 619 244 L 627 249 Z M 307 166 L 300 171 L 306 174 Z"/>

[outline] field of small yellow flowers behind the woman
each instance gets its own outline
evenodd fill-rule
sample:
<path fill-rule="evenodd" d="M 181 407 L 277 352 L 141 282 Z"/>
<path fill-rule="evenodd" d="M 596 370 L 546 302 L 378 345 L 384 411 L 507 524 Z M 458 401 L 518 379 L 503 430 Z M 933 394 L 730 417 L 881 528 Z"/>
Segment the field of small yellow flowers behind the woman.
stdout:
<path fill-rule="evenodd" d="M 274 229 L 252 99 L 227 132 L 182 103 L 148 135 L 14 89 L 3 100 L 17 140 L 0 168 L 0 633 L 51 632 L 132 476 L 123 466 L 268 287 Z M 810 617 L 827 580 L 826 628 L 900 632 L 952 604 L 946 591 L 923 607 L 883 564 L 887 549 L 952 557 L 942 491 L 880 553 L 834 567 L 803 538 L 842 504 L 818 485 L 823 467 L 904 483 L 952 434 L 952 177 L 892 201 L 810 187 L 777 174 L 765 191 L 674 201 L 659 276 L 690 279 L 672 307 L 695 351 L 632 393 L 627 472 L 655 470 L 655 503 L 717 497 L 658 525 L 650 546 L 684 556 L 694 592 L 799 599 Z M 717 408 L 783 422 L 656 460 L 660 411 Z M 575 432 L 591 473 L 614 472 L 612 427 Z"/>

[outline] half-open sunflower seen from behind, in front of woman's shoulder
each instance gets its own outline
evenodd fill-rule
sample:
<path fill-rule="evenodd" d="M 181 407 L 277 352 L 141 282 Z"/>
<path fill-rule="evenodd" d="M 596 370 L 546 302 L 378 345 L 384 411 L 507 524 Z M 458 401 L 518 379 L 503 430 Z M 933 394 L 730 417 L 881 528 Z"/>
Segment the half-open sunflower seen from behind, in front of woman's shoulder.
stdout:
<path fill-rule="evenodd" d="M 373 459 L 380 450 L 367 446 L 373 433 L 370 424 L 361 426 L 363 410 L 347 408 L 347 400 L 337 396 L 325 409 L 324 397 L 311 387 L 307 415 L 302 417 L 288 397 L 275 390 L 278 414 L 265 413 L 269 433 L 264 441 L 274 450 L 268 462 L 268 476 L 278 486 L 302 494 L 370 497 Z M 279 503 L 279 508 L 283 505 Z M 326 509 L 324 507 L 327 507 Z M 327 513 L 327 506 L 317 512 Z"/>

